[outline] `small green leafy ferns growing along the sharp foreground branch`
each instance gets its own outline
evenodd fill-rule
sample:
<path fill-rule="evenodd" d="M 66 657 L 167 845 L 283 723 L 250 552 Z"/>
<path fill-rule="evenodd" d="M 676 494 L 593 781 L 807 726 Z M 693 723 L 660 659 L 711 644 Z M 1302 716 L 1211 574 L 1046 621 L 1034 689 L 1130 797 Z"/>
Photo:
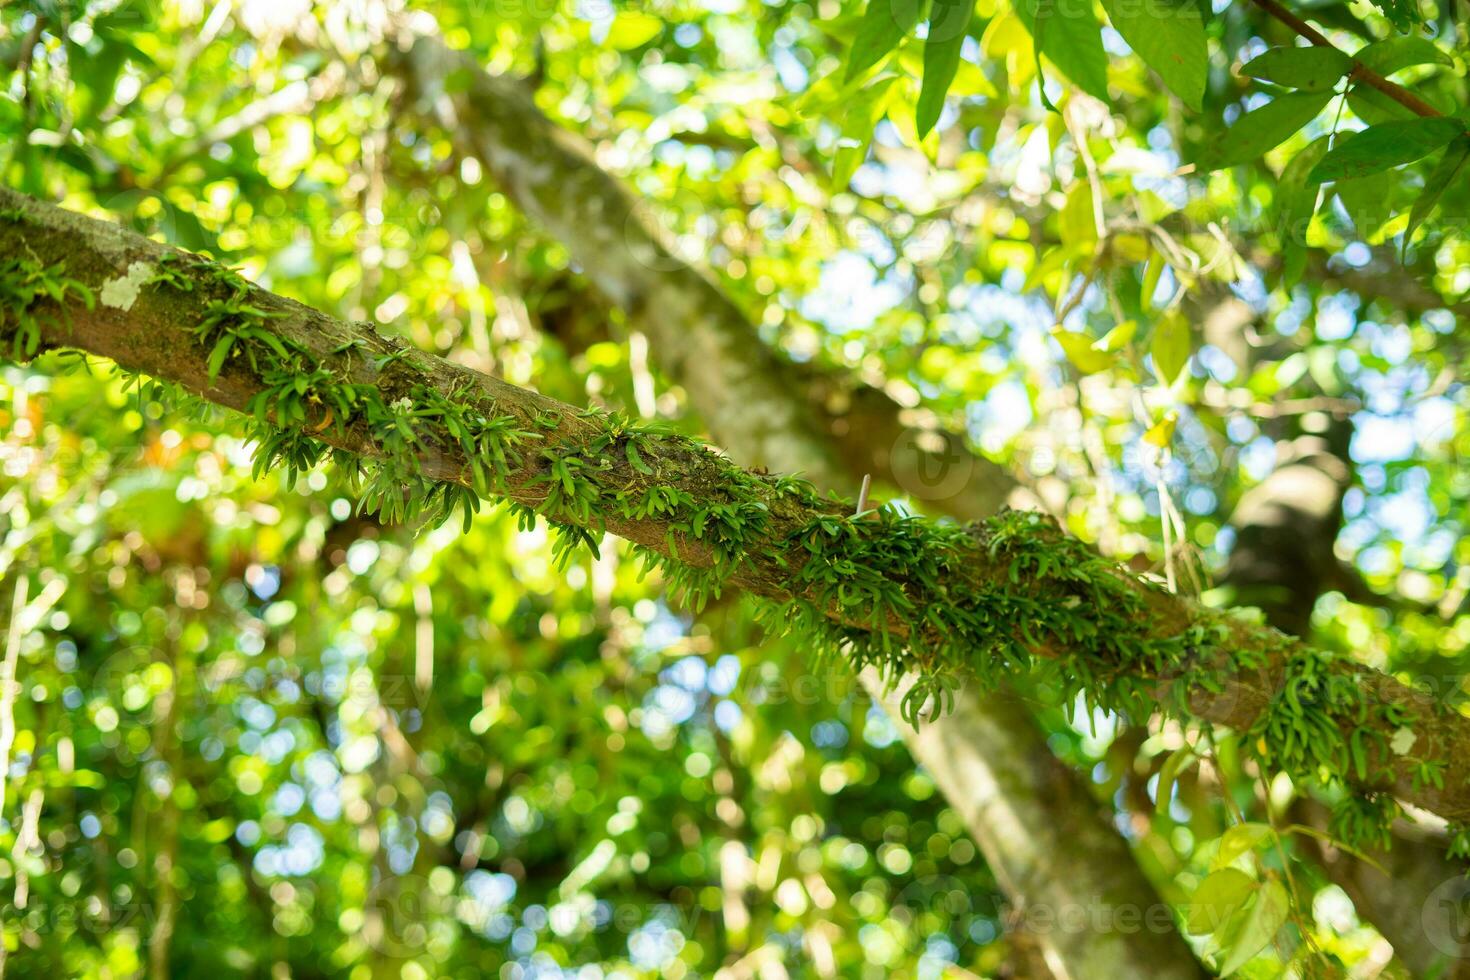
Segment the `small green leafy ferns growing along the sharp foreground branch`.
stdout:
<path fill-rule="evenodd" d="M 16 336 L 41 300 L 75 289 L 90 301 L 60 263 L 38 270 L 12 260 L 0 270 L 0 294 L 19 297 L 6 306 L 15 323 L 0 328 Z M 426 382 L 409 348 L 382 338 L 351 341 L 318 360 L 270 328 L 273 316 L 247 301 L 238 275 L 198 257 L 169 257 L 147 287 L 203 291 L 193 335 L 212 378 L 247 370 L 259 382 L 248 406 L 259 473 L 281 470 L 291 483 L 331 457 L 350 475 L 359 508 L 391 522 L 437 525 L 456 511 L 469 522 L 482 497 L 509 495 L 523 525 L 541 517 L 559 532 L 563 563 L 584 545 L 595 551 L 609 522 L 656 519 L 666 527 L 664 551 L 638 551 L 695 608 L 720 595 L 753 555 L 775 555 L 789 570 L 791 598 L 766 601 L 766 626 L 800 635 L 819 663 L 873 667 L 889 682 L 911 676 L 903 701 L 911 723 L 950 707 L 961 683 L 989 686 L 1017 671 L 1055 689 L 1066 705 L 1083 695 L 1133 717 L 1164 710 L 1188 718 L 1197 714 L 1192 699 L 1225 692 L 1232 673 L 1279 669 L 1244 745 L 1295 779 L 1354 785 L 1338 810 L 1348 843 L 1386 839 L 1398 814 L 1389 795 L 1396 757 L 1413 763 L 1416 788 L 1444 786 L 1444 746 L 1419 738 L 1416 708 L 1373 698 L 1342 661 L 1247 621 L 1244 611 L 1201 610 L 1182 627 L 1166 626 L 1150 607 L 1157 585 L 1041 514 L 1003 511 L 966 526 L 891 507 L 854 516 L 850 502 L 823 500 L 804 480 L 723 464 L 660 425 L 585 411 L 576 430 L 587 435 L 566 438 L 559 413 L 520 420 L 467 383 L 442 391 Z M 348 381 L 362 376 L 351 372 L 363 367 L 354 359 L 376 383 Z M 359 430 L 376 450 L 331 448 L 329 430 Z M 562 438 L 547 438 L 553 430 Z M 717 466 L 697 495 L 686 489 L 688 473 L 664 473 L 689 453 L 709 453 Z M 463 460 L 465 482 L 426 476 L 423 461 L 435 454 Z M 513 488 L 510 476 L 526 472 L 531 479 Z M 778 513 L 784 522 L 773 520 Z M 792 514 L 803 517 L 792 525 Z M 1157 679 L 1170 692 L 1163 702 Z M 1404 745 L 1398 738 L 1388 745 L 1383 730 L 1402 733 Z"/>

